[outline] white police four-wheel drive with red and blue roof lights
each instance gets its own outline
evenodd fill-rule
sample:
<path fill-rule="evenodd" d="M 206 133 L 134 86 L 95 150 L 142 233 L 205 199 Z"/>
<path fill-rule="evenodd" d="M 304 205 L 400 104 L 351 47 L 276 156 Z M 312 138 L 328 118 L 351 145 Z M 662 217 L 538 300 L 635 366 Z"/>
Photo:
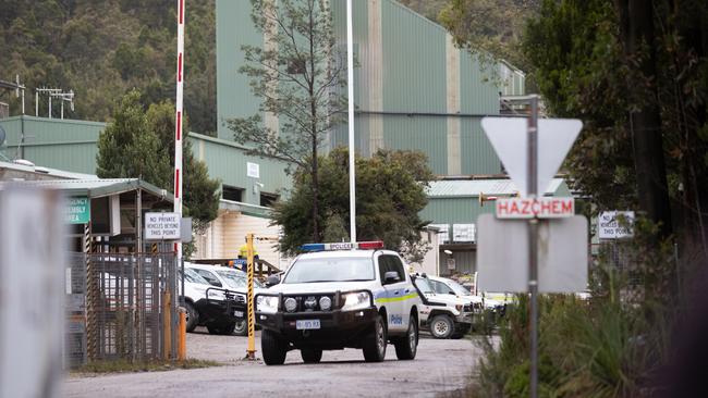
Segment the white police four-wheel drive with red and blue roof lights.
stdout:
<path fill-rule="evenodd" d="M 322 350 L 359 348 L 367 362 L 414 359 L 420 298 L 401 257 L 382 242 L 305 245 L 280 284 L 256 296 L 266 364 L 298 349 L 319 362 Z"/>

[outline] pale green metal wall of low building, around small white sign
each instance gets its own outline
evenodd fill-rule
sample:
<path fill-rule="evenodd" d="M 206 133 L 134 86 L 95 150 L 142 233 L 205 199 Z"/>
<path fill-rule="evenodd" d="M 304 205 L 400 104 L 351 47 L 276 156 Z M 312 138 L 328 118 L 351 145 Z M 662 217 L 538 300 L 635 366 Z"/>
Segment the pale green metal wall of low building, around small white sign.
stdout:
<path fill-rule="evenodd" d="M 197 159 L 200 159 L 200 153 L 204 153 L 202 160 L 209 169 L 209 176 L 219 178 L 222 184 L 243 188 L 245 190 L 244 202 L 258 204 L 260 202 L 260 192 L 282 195 L 283 189 L 291 187 L 290 176 L 285 174 L 288 163 L 284 161 L 247 156 L 246 150 L 233 141 L 198 134 L 190 134 L 190 140 Z M 248 162 L 259 165 L 259 178 L 246 175 Z M 257 192 L 254 191 L 256 183 L 264 185 L 256 188 Z"/>

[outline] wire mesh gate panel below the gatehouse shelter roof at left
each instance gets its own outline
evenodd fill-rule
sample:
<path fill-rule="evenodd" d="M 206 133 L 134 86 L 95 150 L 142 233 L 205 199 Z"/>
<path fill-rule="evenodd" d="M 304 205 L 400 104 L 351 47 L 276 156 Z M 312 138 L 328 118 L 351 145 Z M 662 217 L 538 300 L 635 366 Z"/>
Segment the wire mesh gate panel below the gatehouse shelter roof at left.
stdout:
<path fill-rule="evenodd" d="M 176 340 L 175 262 L 173 252 L 72 253 L 68 364 L 175 358 L 174 345 L 164 352 L 164 340 Z"/>

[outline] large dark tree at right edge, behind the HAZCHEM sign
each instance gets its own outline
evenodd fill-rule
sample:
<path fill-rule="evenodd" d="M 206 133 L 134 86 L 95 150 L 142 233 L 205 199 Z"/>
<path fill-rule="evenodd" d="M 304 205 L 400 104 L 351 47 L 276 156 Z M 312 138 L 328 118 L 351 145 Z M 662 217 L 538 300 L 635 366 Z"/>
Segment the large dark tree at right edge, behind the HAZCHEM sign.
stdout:
<path fill-rule="evenodd" d="M 679 232 L 689 256 L 708 253 L 707 18 L 705 1 L 545 1 L 524 39 L 551 111 L 585 121 L 578 187 Z"/>

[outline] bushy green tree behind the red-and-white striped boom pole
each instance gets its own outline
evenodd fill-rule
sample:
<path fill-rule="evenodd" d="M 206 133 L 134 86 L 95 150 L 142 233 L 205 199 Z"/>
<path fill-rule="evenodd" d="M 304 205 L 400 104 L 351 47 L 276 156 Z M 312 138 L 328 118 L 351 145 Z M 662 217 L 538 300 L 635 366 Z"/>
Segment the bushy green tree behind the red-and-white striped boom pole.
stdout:
<path fill-rule="evenodd" d="M 186 125 L 185 117 L 185 132 Z M 141 92 L 129 92 L 98 139 L 96 174 L 101 178 L 139 177 L 170 189 L 174 173 L 173 134 L 172 103 L 154 103 L 145 111 Z M 188 140 L 184 141 L 183 154 L 184 214 L 192 216 L 199 229 L 218 215 L 219 182 L 209 178 L 206 164 L 194 158 Z"/>

